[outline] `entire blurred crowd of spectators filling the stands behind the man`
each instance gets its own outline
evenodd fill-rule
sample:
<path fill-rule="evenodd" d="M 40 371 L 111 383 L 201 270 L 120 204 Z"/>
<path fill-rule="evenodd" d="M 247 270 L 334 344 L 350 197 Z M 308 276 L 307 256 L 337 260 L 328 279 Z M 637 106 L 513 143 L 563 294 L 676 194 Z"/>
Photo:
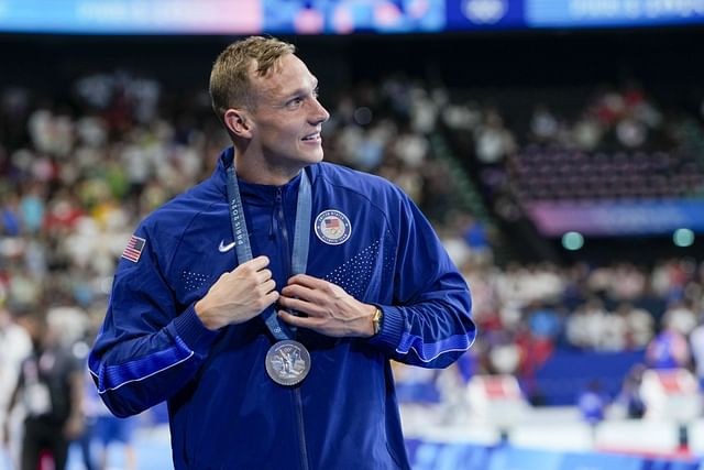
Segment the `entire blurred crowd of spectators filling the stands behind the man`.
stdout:
<path fill-rule="evenodd" d="M 672 147 L 695 145 L 689 136 L 702 134 L 702 116 L 685 113 L 672 127 L 639 87 L 596 96 L 573 117 L 536 102 L 516 129 L 496 107 L 460 101 L 441 86 L 403 76 L 327 97 L 326 159 L 400 186 L 466 276 L 480 335 L 465 376 L 529 379 L 557 348 L 649 348 L 651 364 L 672 361 L 704 378 L 703 260 L 499 266 L 491 221 L 462 203 L 466 188 L 457 183 L 458 166 L 433 145 L 450 129 L 473 145 L 457 157 L 491 167 L 536 143 L 585 151 Z M 696 132 L 686 133 L 691 125 Z M 3 422 L 21 361 L 47 348 L 32 342 L 28 319 L 48 318 L 52 330 L 62 331 L 52 345 L 85 361 L 136 222 L 207 177 L 227 145 L 206 90 L 174 96 L 158 80 L 128 72 L 81 77 L 62 98 L 23 87 L 0 90 Z M 673 338 L 671 350 L 654 342 L 661 335 Z"/>

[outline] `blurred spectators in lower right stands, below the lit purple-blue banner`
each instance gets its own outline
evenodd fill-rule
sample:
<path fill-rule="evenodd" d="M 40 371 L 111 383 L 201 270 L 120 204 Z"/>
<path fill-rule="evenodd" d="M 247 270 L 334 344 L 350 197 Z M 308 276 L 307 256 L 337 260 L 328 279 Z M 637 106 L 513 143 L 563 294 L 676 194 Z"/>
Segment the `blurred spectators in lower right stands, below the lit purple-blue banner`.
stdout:
<path fill-rule="evenodd" d="M 479 369 L 529 379 L 553 350 L 646 350 L 653 368 L 704 367 L 704 263 L 669 259 L 651 269 L 473 266 L 466 277 L 482 335 Z M 667 339 L 667 341 L 666 341 Z"/>

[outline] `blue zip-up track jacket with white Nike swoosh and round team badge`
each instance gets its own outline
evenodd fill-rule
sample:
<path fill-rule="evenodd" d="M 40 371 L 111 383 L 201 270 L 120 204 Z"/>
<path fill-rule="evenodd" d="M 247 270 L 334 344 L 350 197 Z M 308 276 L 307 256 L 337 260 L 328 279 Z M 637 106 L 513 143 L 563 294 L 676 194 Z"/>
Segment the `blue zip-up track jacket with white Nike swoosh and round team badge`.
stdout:
<path fill-rule="evenodd" d="M 389 359 L 444 368 L 470 348 L 475 327 L 463 277 L 397 187 L 328 163 L 309 166 L 306 273 L 378 305 L 383 326 L 371 339 L 299 328 L 312 369 L 297 386 L 277 385 L 264 365 L 274 340 L 261 316 L 210 331 L 194 310 L 238 263 L 228 250 L 232 161 L 226 150 L 209 179 L 136 229 L 89 358 L 102 400 L 118 416 L 166 400 L 177 470 L 408 469 Z M 279 289 L 290 276 L 299 182 L 240 181 L 254 256 L 270 258 Z M 323 212 L 339 217 L 326 221 Z M 338 231 L 326 236 L 326 223 Z"/>

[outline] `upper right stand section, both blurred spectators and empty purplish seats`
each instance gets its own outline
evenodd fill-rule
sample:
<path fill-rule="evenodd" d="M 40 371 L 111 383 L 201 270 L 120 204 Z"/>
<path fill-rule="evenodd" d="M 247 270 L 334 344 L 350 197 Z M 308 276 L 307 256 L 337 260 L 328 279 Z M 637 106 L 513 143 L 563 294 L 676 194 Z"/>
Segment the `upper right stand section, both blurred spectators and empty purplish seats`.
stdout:
<path fill-rule="evenodd" d="M 622 86 L 468 99 L 444 124 L 503 218 L 536 200 L 701 197 L 704 97 L 656 99 Z"/>

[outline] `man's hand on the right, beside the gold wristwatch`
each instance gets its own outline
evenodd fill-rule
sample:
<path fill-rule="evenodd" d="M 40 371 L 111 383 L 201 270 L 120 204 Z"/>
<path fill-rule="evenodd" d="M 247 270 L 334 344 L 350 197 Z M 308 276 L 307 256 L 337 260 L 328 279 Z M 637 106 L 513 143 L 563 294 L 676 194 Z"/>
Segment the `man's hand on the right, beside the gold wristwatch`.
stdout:
<path fill-rule="evenodd" d="M 328 281 L 297 274 L 282 289 L 278 303 L 286 309 L 308 315 L 297 317 L 280 309 L 279 318 L 289 325 L 336 338 L 374 335 L 372 317 L 376 307 L 358 300 Z"/>

